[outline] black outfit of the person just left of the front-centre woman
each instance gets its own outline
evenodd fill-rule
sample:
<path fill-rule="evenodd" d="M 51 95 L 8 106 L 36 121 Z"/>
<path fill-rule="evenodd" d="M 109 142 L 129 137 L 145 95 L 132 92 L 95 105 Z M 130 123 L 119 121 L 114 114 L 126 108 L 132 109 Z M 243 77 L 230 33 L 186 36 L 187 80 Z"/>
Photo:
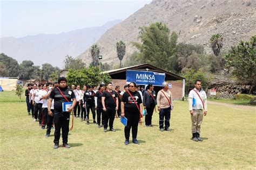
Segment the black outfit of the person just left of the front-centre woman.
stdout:
<path fill-rule="evenodd" d="M 112 96 L 111 96 L 111 95 Z M 116 115 L 116 99 L 118 97 L 116 91 L 112 90 L 111 93 L 104 91 L 102 97 L 105 97 L 105 107 L 106 111 L 103 112 L 104 115 L 104 129 L 107 129 L 107 123 L 109 122 L 110 130 L 113 128 L 114 115 Z"/>

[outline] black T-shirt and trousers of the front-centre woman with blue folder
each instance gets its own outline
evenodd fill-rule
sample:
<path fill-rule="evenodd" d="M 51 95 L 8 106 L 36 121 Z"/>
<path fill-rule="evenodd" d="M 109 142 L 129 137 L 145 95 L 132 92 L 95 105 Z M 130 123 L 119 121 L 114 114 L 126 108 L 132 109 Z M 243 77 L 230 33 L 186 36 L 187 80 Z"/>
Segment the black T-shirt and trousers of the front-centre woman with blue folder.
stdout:
<path fill-rule="evenodd" d="M 129 91 L 134 98 L 135 102 L 137 103 L 138 107 L 139 104 L 142 103 L 142 97 L 138 93 L 138 91 L 131 92 Z M 122 97 L 122 102 L 124 102 L 124 115 L 127 118 L 127 125 L 124 128 L 125 139 L 130 138 L 130 130 L 132 128 L 132 139 L 137 138 L 138 133 L 138 124 L 139 124 L 139 117 L 140 111 L 138 110 L 136 104 L 133 102 L 132 97 L 127 93 L 124 93 Z M 140 109 L 140 108 L 139 108 Z"/>

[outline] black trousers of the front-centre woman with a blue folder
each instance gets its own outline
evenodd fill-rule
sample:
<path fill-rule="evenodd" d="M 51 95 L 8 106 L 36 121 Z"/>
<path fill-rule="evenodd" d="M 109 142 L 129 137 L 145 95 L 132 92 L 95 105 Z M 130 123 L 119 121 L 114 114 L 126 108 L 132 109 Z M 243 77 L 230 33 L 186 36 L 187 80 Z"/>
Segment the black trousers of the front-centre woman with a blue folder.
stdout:
<path fill-rule="evenodd" d="M 136 108 L 137 109 L 137 108 Z M 132 129 L 132 139 L 137 138 L 139 112 L 138 110 L 124 110 L 124 115 L 127 118 L 127 125 L 124 128 L 125 139 L 130 138 L 130 130 Z"/>

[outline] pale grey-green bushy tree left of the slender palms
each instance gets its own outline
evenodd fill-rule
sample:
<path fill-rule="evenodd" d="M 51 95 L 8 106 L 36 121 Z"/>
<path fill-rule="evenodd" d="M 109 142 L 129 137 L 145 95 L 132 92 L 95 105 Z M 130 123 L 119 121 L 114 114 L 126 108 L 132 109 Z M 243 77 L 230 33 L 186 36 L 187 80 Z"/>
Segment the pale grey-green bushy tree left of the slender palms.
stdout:
<path fill-rule="evenodd" d="M 72 56 L 66 55 L 64 67 L 65 69 L 82 69 L 85 67 L 85 63 L 82 61 L 82 59 L 74 59 Z"/>

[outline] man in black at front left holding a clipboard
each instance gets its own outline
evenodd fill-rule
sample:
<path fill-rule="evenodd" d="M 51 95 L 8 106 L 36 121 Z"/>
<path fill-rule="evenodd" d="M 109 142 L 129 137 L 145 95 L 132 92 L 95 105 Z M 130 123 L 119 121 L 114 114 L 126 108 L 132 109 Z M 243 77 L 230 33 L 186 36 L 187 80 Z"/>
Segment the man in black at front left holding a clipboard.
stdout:
<path fill-rule="evenodd" d="M 62 129 L 63 147 L 70 148 L 68 144 L 70 112 L 75 107 L 77 101 L 74 92 L 67 87 L 66 82 L 67 80 L 65 77 L 59 77 L 59 87 L 54 88 L 51 91 L 50 98 L 48 100 L 48 115 L 54 117 L 55 124 L 53 140 L 55 146 L 53 148 L 59 147 L 60 129 Z M 63 110 L 63 105 L 65 105 L 67 102 L 70 102 L 71 98 L 73 100 L 71 107 Z M 54 100 L 54 115 L 51 112 L 52 100 Z"/>

